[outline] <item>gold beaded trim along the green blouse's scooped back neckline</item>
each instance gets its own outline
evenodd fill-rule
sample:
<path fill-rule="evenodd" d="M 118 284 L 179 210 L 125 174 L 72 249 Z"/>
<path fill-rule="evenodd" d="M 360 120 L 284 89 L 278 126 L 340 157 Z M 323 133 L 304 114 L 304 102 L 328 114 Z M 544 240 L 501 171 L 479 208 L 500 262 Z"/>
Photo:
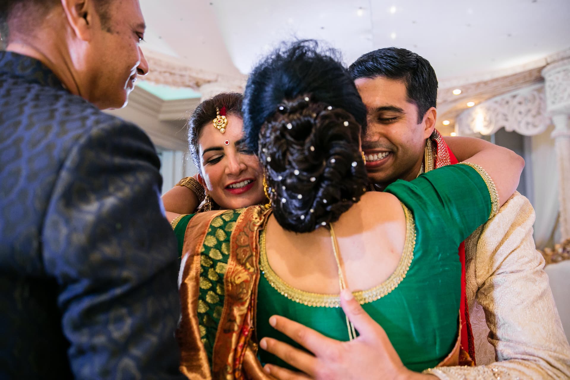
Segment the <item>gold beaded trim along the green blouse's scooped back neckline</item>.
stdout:
<path fill-rule="evenodd" d="M 396 289 L 404 277 L 406 277 L 406 273 L 408 273 L 408 269 L 410 268 L 412 260 L 414 259 L 414 248 L 416 247 L 416 224 L 414 223 L 414 218 L 412 216 L 412 213 L 410 213 L 408 210 L 408 207 L 404 206 L 404 203 L 401 203 L 401 205 L 406 216 L 406 240 L 404 243 L 404 251 L 402 252 L 402 257 L 400 258 L 400 263 L 398 263 L 392 275 L 390 275 L 388 279 L 386 279 L 386 281 L 380 285 L 365 291 L 352 293 L 355 299 L 359 301 L 361 305 L 381 299 Z M 279 277 L 277 273 L 271 269 L 269 262 L 267 261 L 267 252 L 265 248 L 265 230 L 261 232 L 261 244 L 259 245 L 259 266 L 261 272 L 271 287 L 281 293 L 281 295 L 287 297 L 292 301 L 295 301 L 296 303 L 311 307 L 340 307 L 339 295 L 311 293 L 296 289 L 283 281 L 283 279 L 281 279 L 281 277 Z"/>

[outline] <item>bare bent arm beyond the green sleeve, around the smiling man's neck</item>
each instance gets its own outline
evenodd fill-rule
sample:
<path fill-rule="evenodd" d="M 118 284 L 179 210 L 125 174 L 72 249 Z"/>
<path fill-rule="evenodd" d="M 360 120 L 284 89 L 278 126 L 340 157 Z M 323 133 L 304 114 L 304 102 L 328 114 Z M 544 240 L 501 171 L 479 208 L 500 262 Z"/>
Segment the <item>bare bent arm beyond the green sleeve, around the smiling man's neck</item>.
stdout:
<path fill-rule="evenodd" d="M 495 183 L 499 206 L 515 193 L 524 168 L 524 160 L 518 154 L 481 138 L 447 137 L 445 142 L 459 161 L 483 167 Z"/>

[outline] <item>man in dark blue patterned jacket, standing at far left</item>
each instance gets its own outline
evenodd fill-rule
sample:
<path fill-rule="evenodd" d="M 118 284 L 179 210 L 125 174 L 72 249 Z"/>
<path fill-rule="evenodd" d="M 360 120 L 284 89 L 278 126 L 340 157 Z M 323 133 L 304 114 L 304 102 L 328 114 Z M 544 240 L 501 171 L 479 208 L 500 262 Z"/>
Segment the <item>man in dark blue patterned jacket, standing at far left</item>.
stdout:
<path fill-rule="evenodd" d="M 138 0 L 2 0 L 0 378 L 180 378 L 177 248 L 145 133 Z"/>

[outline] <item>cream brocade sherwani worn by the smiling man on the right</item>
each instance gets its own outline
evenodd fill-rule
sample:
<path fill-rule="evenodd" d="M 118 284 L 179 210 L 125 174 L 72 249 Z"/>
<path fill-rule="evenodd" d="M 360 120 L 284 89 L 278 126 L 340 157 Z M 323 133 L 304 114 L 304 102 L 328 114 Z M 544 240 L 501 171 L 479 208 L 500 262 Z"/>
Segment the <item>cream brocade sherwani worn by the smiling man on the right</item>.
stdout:
<path fill-rule="evenodd" d="M 528 199 L 515 193 L 467 238 L 466 296 L 478 366 L 425 373 L 443 380 L 570 378 L 570 346 L 532 238 L 534 220 Z"/>

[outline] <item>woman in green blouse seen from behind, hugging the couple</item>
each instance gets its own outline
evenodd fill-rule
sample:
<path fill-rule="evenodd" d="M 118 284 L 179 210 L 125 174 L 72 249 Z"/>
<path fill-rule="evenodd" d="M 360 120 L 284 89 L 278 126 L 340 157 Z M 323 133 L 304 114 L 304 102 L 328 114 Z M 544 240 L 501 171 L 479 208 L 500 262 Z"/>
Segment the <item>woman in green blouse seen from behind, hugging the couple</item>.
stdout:
<path fill-rule="evenodd" d="M 273 314 L 355 337 L 338 308 L 345 287 L 384 327 L 402 370 L 456 364 L 457 247 L 514 193 L 522 158 L 489 144 L 471 164 L 365 193 L 366 110 L 336 52 L 314 42 L 280 48 L 254 69 L 243 115 L 271 206 L 190 220 L 179 277 L 182 372 L 263 378 L 260 364 L 286 366 L 257 352 L 264 336 L 294 345 L 268 324 Z M 450 182 L 465 186 L 451 191 Z"/>

